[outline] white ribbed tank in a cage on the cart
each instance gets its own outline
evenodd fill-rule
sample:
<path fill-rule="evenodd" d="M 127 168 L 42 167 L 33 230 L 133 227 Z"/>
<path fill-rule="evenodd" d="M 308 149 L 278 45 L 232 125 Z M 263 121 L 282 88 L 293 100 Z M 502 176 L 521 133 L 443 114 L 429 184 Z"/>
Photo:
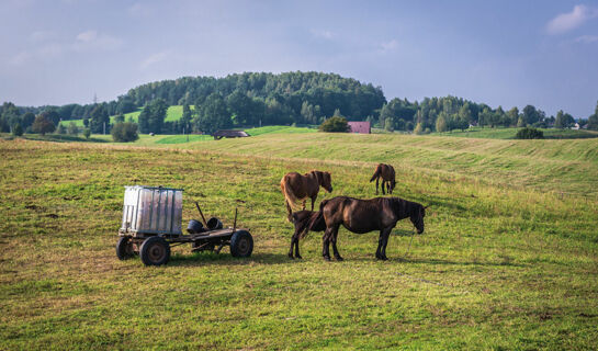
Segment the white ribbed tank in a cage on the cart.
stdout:
<path fill-rule="evenodd" d="M 121 231 L 181 235 L 183 190 L 125 186 Z"/>

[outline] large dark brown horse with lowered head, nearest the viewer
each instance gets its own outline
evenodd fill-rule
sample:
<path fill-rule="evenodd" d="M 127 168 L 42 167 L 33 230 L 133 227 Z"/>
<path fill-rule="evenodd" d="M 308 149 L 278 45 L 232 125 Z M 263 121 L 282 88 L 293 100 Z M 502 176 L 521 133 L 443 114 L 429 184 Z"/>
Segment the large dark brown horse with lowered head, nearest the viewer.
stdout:
<path fill-rule="evenodd" d="M 321 256 L 325 260 L 330 260 L 329 245 L 331 242 L 335 258 L 338 261 L 342 260 L 337 250 L 338 229 L 342 225 L 345 228 L 357 234 L 380 230 L 376 259 L 387 260 L 386 245 L 396 223 L 408 217 L 417 228 L 417 234 L 421 234 L 424 233 L 426 208 L 427 206 L 424 207 L 421 204 L 399 197 L 359 200 L 337 196 L 325 200 L 319 205 L 319 211 L 323 213 L 324 220 L 326 222 Z"/>

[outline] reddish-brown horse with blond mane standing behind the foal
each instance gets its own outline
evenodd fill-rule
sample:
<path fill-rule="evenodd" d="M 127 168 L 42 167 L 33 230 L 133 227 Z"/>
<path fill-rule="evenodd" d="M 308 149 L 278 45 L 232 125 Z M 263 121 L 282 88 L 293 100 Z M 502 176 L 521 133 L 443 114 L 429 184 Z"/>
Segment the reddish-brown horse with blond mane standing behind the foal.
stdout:
<path fill-rule="evenodd" d="M 284 194 L 286 202 L 286 211 L 289 212 L 289 220 L 293 213 L 291 206 L 295 206 L 297 201 L 303 200 L 303 210 L 305 210 L 305 201 L 312 199 L 312 211 L 314 211 L 314 202 L 318 197 L 319 186 L 327 192 L 332 192 L 332 183 L 329 172 L 311 171 L 309 173 L 300 174 L 297 172 L 286 173 L 280 181 L 280 189 Z"/>

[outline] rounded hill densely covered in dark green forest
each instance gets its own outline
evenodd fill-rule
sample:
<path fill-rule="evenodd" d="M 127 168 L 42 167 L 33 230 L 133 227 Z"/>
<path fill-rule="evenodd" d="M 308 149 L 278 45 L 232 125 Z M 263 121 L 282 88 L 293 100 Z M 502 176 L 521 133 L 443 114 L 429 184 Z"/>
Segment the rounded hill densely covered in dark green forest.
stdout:
<path fill-rule="evenodd" d="M 259 120 L 266 124 L 316 124 L 337 109 L 349 120 L 365 120 L 386 102 L 380 87 L 335 73 L 245 72 L 147 83 L 120 97 L 116 109 L 121 111 L 116 112 L 144 106 L 155 99 L 163 99 L 169 105 L 202 106 L 212 94 L 218 94 L 241 124 Z"/>

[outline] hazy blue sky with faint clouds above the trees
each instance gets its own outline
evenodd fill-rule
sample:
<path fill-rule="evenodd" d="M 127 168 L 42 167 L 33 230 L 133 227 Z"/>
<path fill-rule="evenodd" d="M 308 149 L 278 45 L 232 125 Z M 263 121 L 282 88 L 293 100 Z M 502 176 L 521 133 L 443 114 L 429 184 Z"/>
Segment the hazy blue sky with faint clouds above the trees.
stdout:
<path fill-rule="evenodd" d="M 321 71 L 387 100 L 594 113 L 598 1 L 0 0 L 0 103 L 110 101 L 183 76 Z"/>

